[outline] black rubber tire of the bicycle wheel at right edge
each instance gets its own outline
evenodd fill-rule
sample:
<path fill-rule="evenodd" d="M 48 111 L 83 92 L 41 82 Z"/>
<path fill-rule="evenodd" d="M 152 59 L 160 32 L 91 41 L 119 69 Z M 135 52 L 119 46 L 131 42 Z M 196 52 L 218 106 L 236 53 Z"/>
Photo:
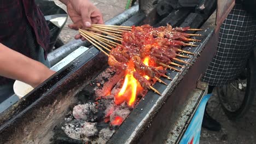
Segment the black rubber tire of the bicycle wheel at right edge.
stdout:
<path fill-rule="evenodd" d="M 253 53 L 250 55 L 247 63 L 247 87 L 244 99 L 242 101 L 241 106 L 236 111 L 230 111 L 227 109 L 223 103 L 221 97 L 225 97 L 222 93 L 224 87 L 217 87 L 217 94 L 220 101 L 220 105 L 222 106 L 225 115 L 230 120 L 236 120 L 238 118 L 243 117 L 246 112 L 249 110 L 251 105 L 253 104 L 254 96 L 255 96 L 255 84 L 256 84 L 256 75 L 255 75 L 256 65 Z"/>

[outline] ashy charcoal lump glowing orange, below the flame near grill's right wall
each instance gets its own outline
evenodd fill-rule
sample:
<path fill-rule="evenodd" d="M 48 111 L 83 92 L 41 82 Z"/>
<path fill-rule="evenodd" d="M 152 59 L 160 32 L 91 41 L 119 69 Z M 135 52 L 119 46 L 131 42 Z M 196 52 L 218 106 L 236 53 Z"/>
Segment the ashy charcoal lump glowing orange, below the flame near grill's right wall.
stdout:
<path fill-rule="evenodd" d="M 129 108 L 126 107 L 118 107 L 115 111 L 110 115 L 110 123 L 112 125 L 121 125 L 124 119 L 130 114 Z"/>

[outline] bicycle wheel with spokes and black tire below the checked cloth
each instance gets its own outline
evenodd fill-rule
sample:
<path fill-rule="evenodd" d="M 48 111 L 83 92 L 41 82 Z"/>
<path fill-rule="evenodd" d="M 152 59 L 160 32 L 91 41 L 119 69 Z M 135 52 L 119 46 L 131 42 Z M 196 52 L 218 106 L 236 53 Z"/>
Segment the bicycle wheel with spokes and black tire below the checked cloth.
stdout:
<path fill-rule="evenodd" d="M 220 104 L 229 119 L 241 118 L 249 110 L 255 95 L 255 60 L 254 55 L 248 59 L 245 76 L 239 76 L 228 85 L 217 87 Z"/>

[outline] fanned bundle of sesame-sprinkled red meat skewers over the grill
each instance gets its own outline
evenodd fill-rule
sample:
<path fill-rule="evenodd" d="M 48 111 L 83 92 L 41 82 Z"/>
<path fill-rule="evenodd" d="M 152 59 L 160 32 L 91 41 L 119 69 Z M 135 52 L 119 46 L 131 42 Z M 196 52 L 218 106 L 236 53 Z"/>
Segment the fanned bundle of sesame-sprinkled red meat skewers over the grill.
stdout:
<path fill-rule="evenodd" d="M 108 64 L 120 70 L 126 70 L 135 77 L 139 84 L 145 89 L 152 89 L 154 82 L 158 81 L 167 85 L 160 77 L 170 79 L 166 75 L 167 68 L 183 67 L 190 63 L 178 57 L 190 58 L 194 53 L 182 50 L 183 46 L 196 46 L 189 41 L 200 41 L 191 39 L 191 36 L 200 34 L 188 34 L 185 31 L 200 31 L 190 27 L 166 27 L 154 28 L 149 25 L 143 26 L 112 26 L 92 25 L 86 30 L 79 29 L 80 34 L 92 45 L 108 56 Z M 181 55 L 185 53 L 186 55 Z M 148 59 L 145 62 L 145 59 Z M 176 62 L 182 63 L 178 64 Z"/>

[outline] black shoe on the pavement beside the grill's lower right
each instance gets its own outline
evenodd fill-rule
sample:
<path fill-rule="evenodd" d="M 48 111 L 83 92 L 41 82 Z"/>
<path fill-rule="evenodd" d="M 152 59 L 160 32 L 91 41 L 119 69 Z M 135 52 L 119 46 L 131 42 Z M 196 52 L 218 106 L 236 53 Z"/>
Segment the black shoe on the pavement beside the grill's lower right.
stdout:
<path fill-rule="evenodd" d="M 203 115 L 202 127 L 212 131 L 219 131 L 222 126 L 219 122 L 213 119 L 205 110 L 205 114 Z"/>

